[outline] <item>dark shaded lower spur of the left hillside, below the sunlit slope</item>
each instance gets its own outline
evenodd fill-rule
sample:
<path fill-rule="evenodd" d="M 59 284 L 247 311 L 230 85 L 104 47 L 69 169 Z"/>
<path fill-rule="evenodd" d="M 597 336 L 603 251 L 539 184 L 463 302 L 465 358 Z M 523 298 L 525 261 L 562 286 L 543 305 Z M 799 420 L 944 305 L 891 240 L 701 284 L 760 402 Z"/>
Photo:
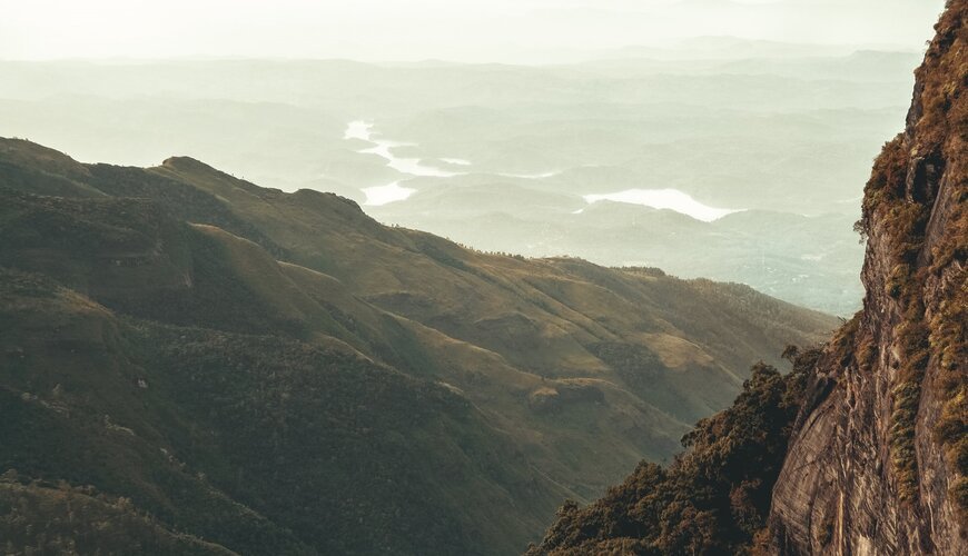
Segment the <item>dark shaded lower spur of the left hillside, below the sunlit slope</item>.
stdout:
<path fill-rule="evenodd" d="M 490 554 L 474 512 L 541 496 L 464 398 L 350 350 L 117 321 L 4 269 L 0 301 L 0 468 L 124 493 L 159 527 L 249 554 Z"/>

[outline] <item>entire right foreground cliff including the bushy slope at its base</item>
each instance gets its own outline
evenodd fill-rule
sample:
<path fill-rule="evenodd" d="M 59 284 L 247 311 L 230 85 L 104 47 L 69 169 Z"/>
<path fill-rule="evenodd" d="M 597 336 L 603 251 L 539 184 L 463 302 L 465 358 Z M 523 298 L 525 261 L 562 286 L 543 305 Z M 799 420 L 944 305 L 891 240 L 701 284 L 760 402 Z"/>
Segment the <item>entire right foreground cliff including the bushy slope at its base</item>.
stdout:
<path fill-rule="evenodd" d="M 968 1 L 936 29 L 907 129 L 867 183 L 865 309 L 791 375 L 754 369 L 669 468 L 642 464 L 587 507 L 566 504 L 530 554 L 964 554 Z"/>

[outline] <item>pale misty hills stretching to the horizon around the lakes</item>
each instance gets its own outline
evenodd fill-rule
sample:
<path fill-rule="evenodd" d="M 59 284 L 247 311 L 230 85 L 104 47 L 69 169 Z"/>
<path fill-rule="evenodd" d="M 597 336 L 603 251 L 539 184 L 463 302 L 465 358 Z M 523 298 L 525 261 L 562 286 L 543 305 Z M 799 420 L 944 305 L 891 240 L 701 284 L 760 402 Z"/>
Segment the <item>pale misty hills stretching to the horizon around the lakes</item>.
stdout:
<path fill-rule="evenodd" d="M 547 67 L 0 62 L 0 131 L 81 160 L 191 155 L 358 202 L 396 183 L 415 192 L 365 210 L 484 250 L 660 266 L 853 312 L 860 185 L 903 113 L 918 54 L 693 44 L 710 54 L 673 63 L 625 49 Z M 414 176 L 359 152 L 373 143 L 344 138 L 355 120 L 393 140 L 394 156 L 455 175 Z M 703 224 L 584 200 L 633 189 L 745 212 Z M 784 238 L 770 232 L 788 224 Z"/>

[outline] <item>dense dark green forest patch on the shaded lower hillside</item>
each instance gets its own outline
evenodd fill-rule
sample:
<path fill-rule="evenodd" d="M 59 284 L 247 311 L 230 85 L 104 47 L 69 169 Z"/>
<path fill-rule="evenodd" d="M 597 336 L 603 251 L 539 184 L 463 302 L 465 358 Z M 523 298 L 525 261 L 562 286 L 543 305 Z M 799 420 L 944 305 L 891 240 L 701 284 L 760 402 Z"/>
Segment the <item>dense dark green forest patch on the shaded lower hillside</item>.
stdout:
<path fill-rule="evenodd" d="M 206 473 L 234 498 L 324 553 L 453 554 L 482 542 L 446 510 L 446 487 L 434 480 L 450 474 L 445 483 L 472 481 L 463 461 L 500 466 L 475 453 L 488 439 L 463 398 L 357 356 L 277 337 L 144 332 L 145 363 L 192 427 L 219 431 L 176 437 L 176 449 L 204 460 L 216 444 L 221 458 Z"/>

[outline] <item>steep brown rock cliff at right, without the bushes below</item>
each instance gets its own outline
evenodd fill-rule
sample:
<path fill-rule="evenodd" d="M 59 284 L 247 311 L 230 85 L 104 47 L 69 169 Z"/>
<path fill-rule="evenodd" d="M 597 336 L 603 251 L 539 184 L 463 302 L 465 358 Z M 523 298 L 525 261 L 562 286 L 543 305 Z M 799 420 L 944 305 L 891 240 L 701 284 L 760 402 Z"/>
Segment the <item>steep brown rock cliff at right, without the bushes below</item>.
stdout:
<path fill-rule="evenodd" d="M 968 0 L 948 2 L 867 186 L 863 310 L 817 365 L 778 554 L 968 554 Z"/>

